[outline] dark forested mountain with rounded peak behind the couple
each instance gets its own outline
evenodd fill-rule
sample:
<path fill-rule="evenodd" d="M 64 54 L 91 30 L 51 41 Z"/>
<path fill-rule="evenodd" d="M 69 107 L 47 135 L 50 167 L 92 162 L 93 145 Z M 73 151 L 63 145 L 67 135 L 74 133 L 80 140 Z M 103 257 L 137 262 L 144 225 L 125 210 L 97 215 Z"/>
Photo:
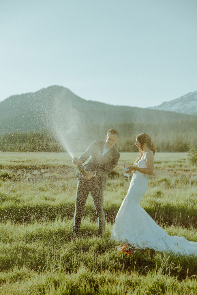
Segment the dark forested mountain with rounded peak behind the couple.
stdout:
<path fill-rule="evenodd" d="M 191 115 L 114 106 L 87 101 L 63 86 L 49 86 L 36 92 L 13 95 L 0 102 L 0 134 L 49 129 L 51 122 L 72 130 L 87 125 L 117 122 L 162 123 L 188 120 Z M 113 127 L 113 126 L 112 126 Z"/>

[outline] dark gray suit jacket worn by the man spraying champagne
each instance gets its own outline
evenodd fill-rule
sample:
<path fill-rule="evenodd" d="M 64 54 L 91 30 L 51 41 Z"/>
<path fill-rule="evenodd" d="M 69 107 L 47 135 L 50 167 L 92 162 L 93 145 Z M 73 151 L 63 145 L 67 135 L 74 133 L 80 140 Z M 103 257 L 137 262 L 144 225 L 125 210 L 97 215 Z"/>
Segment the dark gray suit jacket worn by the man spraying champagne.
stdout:
<path fill-rule="evenodd" d="M 115 168 L 120 158 L 120 154 L 114 147 L 110 148 L 110 150 L 102 156 L 104 145 L 105 141 L 95 140 L 79 157 L 79 159 L 82 160 L 82 163 L 88 159 L 85 168 L 87 171 L 96 171 L 96 177 L 90 179 L 103 190 L 106 188 L 108 173 Z M 77 173 L 76 176 L 79 179 L 82 178 L 80 172 Z"/>

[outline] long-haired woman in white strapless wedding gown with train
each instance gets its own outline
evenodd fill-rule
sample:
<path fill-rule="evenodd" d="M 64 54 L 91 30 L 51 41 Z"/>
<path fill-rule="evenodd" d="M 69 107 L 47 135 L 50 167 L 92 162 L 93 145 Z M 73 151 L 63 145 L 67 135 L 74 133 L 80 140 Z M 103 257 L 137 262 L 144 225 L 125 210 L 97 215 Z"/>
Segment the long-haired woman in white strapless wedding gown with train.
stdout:
<path fill-rule="evenodd" d="M 127 173 L 133 171 L 128 193 L 123 200 L 111 233 L 111 240 L 122 241 L 136 246 L 137 249 L 152 248 L 182 255 L 197 255 L 197 242 L 185 237 L 170 236 L 139 206 L 141 197 L 148 188 L 147 176 L 154 170 L 156 149 L 151 137 L 142 133 L 136 137 L 135 145 L 140 154 Z M 124 168 L 118 164 L 117 167 Z"/>

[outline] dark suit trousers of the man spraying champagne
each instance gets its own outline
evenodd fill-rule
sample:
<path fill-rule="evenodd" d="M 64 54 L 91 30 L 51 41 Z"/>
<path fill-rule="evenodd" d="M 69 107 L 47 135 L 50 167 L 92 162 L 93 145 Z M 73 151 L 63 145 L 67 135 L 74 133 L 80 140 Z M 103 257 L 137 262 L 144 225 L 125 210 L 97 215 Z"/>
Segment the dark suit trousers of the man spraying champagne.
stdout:
<path fill-rule="evenodd" d="M 91 192 L 98 220 L 99 235 L 105 230 L 105 211 L 103 210 L 103 189 L 95 179 L 80 178 L 77 183 L 76 204 L 73 222 L 73 235 L 78 235 L 87 197 Z"/>

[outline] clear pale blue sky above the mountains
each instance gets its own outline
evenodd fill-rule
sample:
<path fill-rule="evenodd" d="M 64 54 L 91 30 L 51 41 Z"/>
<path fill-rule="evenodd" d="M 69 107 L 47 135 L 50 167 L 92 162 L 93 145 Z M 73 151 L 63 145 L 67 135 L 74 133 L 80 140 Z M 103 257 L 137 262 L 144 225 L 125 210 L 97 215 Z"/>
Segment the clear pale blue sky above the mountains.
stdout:
<path fill-rule="evenodd" d="M 0 101 L 51 85 L 149 107 L 197 90 L 196 0 L 0 0 Z"/>

